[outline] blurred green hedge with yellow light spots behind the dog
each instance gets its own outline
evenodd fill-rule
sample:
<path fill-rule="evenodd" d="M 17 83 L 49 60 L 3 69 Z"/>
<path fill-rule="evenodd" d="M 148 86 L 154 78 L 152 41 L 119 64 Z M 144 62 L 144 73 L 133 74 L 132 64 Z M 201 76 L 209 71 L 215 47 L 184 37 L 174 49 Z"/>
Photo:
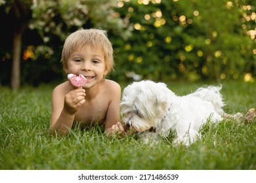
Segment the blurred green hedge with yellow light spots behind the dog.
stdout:
<path fill-rule="evenodd" d="M 246 35 L 253 29 L 247 24 L 255 24 L 249 1 L 128 1 L 117 11 L 135 27 L 117 46 L 120 73 L 125 68 L 154 80 L 255 76 L 255 39 Z"/>

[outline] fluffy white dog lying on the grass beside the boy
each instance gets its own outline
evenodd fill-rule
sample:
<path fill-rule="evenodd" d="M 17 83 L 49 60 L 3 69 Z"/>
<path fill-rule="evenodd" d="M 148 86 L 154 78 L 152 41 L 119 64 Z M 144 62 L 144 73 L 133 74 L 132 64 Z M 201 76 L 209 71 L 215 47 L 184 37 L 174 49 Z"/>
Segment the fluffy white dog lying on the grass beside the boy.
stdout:
<path fill-rule="evenodd" d="M 123 90 L 120 103 L 123 122 L 139 132 L 144 142 L 157 142 L 173 130 L 177 133 L 174 143 L 188 146 L 200 137 L 200 127 L 207 120 L 223 119 L 220 90 L 221 86 L 208 86 L 177 96 L 161 82 L 133 82 Z"/>

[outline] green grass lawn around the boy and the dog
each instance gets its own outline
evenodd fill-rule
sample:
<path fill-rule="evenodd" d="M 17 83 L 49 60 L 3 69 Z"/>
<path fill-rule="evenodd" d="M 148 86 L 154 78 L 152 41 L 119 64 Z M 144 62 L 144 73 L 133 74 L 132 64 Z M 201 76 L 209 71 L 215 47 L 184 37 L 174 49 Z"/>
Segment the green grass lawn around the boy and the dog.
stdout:
<path fill-rule="evenodd" d="M 203 84 L 168 86 L 184 95 Z M 68 137 L 53 137 L 48 131 L 52 90 L 0 87 L 0 169 L 256 169 L 256 122 L 207 124 L 203 138 L 188 148 L 173 146 L 171 137 L 155 146 L 136 137 L 104 137 L 100 127 L 75 127 Z M 226 112 L 256 107 L 255 83 L 223 82 L 222 93 Z"/>

